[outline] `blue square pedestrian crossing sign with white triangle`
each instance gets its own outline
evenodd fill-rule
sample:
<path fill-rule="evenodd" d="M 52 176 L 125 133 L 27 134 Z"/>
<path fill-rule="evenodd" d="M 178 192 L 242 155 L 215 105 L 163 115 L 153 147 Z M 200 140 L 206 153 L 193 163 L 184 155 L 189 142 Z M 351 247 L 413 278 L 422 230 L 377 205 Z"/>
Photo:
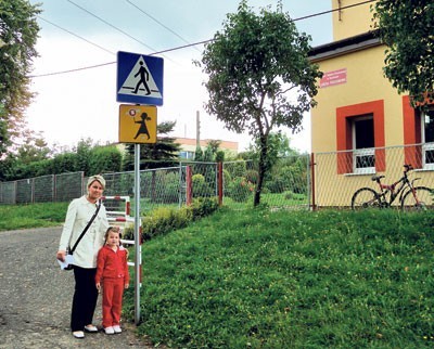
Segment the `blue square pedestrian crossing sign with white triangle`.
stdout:
<path fill-rule="evenodd" d="M 116 101 L 163 105 L 163 68 L 161 57 L 118 51 Z"/>

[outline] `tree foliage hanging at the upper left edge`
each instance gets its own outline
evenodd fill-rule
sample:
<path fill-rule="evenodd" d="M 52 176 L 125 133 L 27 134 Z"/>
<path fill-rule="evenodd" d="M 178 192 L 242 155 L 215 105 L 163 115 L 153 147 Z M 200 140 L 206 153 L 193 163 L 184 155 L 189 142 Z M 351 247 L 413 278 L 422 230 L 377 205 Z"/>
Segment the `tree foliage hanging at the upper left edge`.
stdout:
<path fill-rule="evenodd" d="M 25 127 L 24 111 L 30 104 L 33 59 L 39 26 L 39 4 L 26 0 L 0 1 L 0 158 Z"/>

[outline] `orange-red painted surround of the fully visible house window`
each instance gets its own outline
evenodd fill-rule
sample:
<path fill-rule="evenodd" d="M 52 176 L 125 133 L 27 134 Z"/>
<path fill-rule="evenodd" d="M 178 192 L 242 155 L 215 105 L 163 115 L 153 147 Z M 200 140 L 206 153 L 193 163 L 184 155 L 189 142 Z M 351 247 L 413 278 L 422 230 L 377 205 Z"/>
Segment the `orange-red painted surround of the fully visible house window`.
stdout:
<path fill-rule="evenodd" d="M 357 116 L 371 114 L 373 117 L 373 138 L 375 147 L 375 170 L 385 171 L 384 147 L 384 101 L 372 101 L 336 108 L 336 150 L 337 173 L 353 172 L 353 133 L 350 119 Z M 349 154 L 348 154 L 349 153 Z M 348 156 L 349 155 L 349 156 Z"/>

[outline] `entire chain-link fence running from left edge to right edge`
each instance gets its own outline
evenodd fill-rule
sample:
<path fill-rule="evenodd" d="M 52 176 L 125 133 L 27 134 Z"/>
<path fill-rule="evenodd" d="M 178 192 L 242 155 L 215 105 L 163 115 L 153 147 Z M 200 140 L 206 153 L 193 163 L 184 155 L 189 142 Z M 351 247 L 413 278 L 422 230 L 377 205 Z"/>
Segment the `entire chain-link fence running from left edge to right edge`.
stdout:
<path fill-rule="evenodd" d="M 403 176 L 404 165 L 416 185 L 434 188 L 434 151 L 424 144 L 363 151 L 317 153 L 277 159 L 267 169 L 260 203 L 272 208 L 350 207 L 353 194 L 361 186 L 379 191 L 373 174 L 393 184 Z M 135 173 L 103 173 L 106 196 L 135 195 Z M 43 176 L 0 182 L 0 204 L 68 202 L 86 193 L 84 172 Z M 253 205 L 258 166 L 253 160 L 216 163 L 182 161 L 179 166 L 140 172 L 141 207 L 189 205 L 197 197 L 219 196 L 224 205 Z M 399 199 L 396 203 L 399 204 Z"/>

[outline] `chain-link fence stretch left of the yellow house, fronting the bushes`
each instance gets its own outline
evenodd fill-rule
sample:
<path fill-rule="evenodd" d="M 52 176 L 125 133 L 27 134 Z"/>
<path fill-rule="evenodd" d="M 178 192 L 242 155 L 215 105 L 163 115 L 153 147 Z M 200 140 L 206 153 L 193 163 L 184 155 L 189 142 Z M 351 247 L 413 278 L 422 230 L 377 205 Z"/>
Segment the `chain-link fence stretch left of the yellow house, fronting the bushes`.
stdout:
<path fill-rule="evenodd" d="M 270 207 L 309 206 L 309 157 L 280 158 L 263 185 L 261 203 Z M 103 173 L 105 196 L 135 195 L 133 171 Z M 225 205 L 253 205 L 257 164 L 247 161 L 182 161 L 177 167 L 140 171 L 140 198 L 144 210 L 190 204 L 197 197 L 219 196 Z M 68 202 L 86 193 L 82 172 L 37 177 L 0 183 L 0 204 Z M 133 202 L 133 201 L 131 201 Z M 133 211 L 133 208 L 132 208 Z"/>

